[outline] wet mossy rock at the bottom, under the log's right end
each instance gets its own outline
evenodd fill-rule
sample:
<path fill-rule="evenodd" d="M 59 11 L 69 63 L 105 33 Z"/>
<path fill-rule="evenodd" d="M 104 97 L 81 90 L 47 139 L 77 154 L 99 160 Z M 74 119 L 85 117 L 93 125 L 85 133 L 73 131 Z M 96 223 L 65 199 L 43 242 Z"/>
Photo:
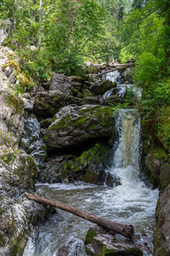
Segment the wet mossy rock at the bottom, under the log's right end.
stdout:
<path fill-rule="evenodd" d="M 99 226 L 88 230 L 86 240 L 86 253 L 99 256 L 142 256 L 143 252 L 133 241 L 119 240 Z"/>

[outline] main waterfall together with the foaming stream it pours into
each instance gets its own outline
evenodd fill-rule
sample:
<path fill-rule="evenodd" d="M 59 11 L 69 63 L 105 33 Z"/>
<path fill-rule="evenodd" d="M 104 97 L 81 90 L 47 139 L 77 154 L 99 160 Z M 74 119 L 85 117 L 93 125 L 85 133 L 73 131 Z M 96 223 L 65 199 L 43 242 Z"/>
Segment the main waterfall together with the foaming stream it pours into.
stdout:
<path fill-rule="evenodd" d="M 99 217 L 122 224 L 133 224 L 135 234 L 139 234 L 141 240 L 152 247 L 158 190 L 146 187 L 139 180 L 141 142 L 137 111 L 122 109 L 116 117 L 116 134 L 113 163 L 106 172 L 119 178 L 120 185 L 111 188 L 81 182 L 39 183 L 37 190 L 51 200 L 69 204 Z M 59 246 L 73 238 L 75 240 L 68 256 L 86 255 L 83 241 L 92 224 L 71 213 L 58 212 L 45 224 L 36 227 L 23 256 L 57 255 Z"/>

